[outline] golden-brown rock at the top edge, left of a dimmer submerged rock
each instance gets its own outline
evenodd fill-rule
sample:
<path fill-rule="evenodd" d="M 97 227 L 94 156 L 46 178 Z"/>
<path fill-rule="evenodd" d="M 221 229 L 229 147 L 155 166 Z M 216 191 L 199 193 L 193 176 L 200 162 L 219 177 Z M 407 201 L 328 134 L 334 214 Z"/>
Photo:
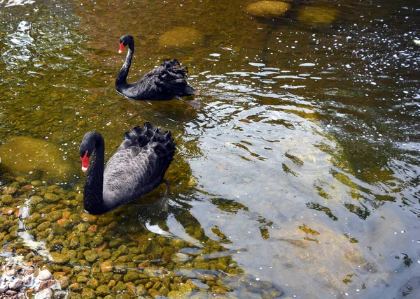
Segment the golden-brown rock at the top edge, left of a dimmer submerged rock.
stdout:
<path fill-rule="evenodd" d="M 282 1 L 258 1 L 246 7 L 246 11 L 254 17 L 279 19 L 290 9 L 290 3 Z"/>

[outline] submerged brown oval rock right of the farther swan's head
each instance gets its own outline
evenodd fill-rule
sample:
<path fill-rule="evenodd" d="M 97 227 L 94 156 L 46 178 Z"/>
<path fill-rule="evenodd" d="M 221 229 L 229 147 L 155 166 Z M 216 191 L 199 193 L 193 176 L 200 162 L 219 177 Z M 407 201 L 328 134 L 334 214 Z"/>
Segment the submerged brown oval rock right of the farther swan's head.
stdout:
<path fill-rule="evenodd" d="M 196 29 L 190 27 L 176 27 L 165 32 L 160 36 L 158 44 L 168 47 L 187 47 L 200 41 L 201 34 Z"/>

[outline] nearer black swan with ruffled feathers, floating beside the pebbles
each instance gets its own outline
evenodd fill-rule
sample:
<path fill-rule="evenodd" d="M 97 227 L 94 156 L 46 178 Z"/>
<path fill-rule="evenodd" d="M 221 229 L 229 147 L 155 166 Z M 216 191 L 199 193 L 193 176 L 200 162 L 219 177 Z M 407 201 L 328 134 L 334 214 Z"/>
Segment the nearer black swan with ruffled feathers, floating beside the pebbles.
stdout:
<path fill-rule="evenodd" d="M 90 214 L 105 214 L 152 191 L 162 183 L 174 159 L 171 131 L 161 133 L 146 122 L 144 128 L 136 126 L 124 135 L 125 140 L 106 163 L 105 170 L 104 138 L 95 131 L 83 137 L 79 148 L 82 170 L 87 171 L 83 206 Z"/>

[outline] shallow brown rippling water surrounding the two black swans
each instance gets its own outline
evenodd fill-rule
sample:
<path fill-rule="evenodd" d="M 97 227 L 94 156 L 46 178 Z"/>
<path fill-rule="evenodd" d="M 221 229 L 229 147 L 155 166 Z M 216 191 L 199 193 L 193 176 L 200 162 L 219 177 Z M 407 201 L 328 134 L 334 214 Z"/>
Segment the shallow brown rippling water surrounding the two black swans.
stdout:
<path fill-rule="evenodd" d="M 63 287 L 70 298 L 419 296 L 420 7 L 295 1 L 280 20 L 259 20 L 251 2 L 0 1 L 0 140 L 52 143 L 75 168 L 1 168 L 13 196 L 1 207 L 3 268 L 87 284 Z M 333 21 L 304 19 L 314 7 Z M 185 27 L 185 42 L 171 33 Z M 162 44 L 167 32 L 177 45 Z M 176 57 L 199 109 L 116 93 L 128 33 L 129 81 Z M 87 217 L 81 138 L 102 132 L 112 154 L 146 121 L 178 146 L 166 209 L 150 205 L 161 186 Z"/>

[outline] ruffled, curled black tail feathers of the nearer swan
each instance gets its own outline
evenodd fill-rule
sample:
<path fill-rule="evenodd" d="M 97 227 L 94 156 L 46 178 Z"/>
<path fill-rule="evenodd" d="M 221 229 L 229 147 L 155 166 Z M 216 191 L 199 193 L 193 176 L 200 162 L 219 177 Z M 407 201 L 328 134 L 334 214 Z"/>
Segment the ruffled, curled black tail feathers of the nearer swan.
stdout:
<path fill-rule="evenodd" d="M 124 135 L 133 144 L 138 143 L 141 147 L 151 146 L 158 159 L 165 161 L 168 166 L 174 160 L 175 143 L 171 131 L 160 132 L 150 122 L 146 122 L 143 128 L 135 126 L 131 131 L 125 132 Z"/>

